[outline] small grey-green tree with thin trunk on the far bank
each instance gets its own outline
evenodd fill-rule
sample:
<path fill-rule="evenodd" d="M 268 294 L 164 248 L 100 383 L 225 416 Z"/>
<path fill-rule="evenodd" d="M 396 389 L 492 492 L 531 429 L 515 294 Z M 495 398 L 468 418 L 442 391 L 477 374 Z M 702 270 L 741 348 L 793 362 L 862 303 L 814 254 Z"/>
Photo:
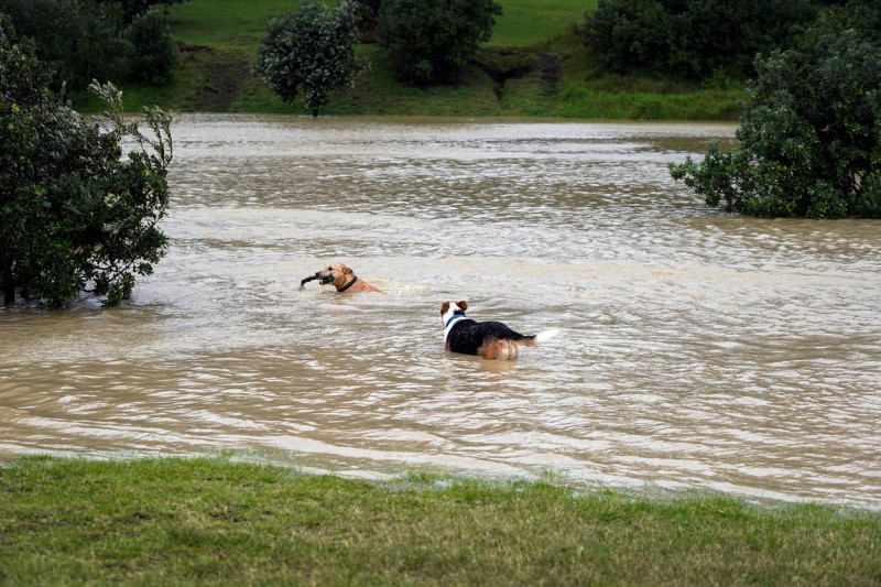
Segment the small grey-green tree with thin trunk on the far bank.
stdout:
<path fill-rule="evenodd" d="M 352 3 L 328 7 L 305 0 L 296 12 L 271 18 L 257 51 L 254 70 L 273 91 L 293 104 L 303 101 L 317 117 L 333 91 L 350 87 L 366 65 L 355 54 L 358 29 Z"/>

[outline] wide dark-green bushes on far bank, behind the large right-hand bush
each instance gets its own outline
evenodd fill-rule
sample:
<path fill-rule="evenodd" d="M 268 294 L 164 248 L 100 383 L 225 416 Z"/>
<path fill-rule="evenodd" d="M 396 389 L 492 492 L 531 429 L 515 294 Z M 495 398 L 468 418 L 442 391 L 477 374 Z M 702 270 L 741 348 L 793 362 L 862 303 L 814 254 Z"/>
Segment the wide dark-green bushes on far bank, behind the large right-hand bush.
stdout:
<path fill-rule="evenodd" d="M 612 73 L 742 78 L 815 15 L 813 0 L 599 0 L 584 41 Z"/>

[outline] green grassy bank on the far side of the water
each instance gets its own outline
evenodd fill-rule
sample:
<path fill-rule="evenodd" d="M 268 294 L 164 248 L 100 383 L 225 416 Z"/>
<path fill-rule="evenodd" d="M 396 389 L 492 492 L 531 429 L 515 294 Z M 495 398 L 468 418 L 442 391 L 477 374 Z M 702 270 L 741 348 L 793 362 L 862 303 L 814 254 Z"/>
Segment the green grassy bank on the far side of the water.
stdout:
<path fill-rule="evenodd" d="M 699 87 L 607 76 L 578 40 L 585 10 L 596 0 L 500 0 L 504 13 L 492 39 L 456 86 L 425 90 L 399 84 L 376 45 L 359 47 L 370 63 L 355 88 L 333 97 L 326 115 L 564 117 L 587 119 L 733 120 L 742 87 Z M 126 107 L 159 105 L 175 111 L 305 113 L 286 105 L 251 72 L 270 15 L 295 9 L 291 0 L 188 0 L 171 7 L 181 51 L 173 84 L 121 84 Z M 515 72 L 515 75 L 509 75 Z M 84 111 L 102 106 L 73 95 Z"/>

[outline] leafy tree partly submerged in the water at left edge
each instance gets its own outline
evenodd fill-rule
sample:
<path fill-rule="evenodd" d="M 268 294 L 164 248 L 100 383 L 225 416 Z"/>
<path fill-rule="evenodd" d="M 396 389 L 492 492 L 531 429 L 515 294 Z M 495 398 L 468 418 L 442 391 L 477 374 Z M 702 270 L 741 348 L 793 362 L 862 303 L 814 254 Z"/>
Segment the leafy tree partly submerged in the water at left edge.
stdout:
<path fill-rule="evenodd" d="M 107 100 L 102 126 L 47 89 L 51 69 L 0 15 L 0 287 L 52 308 L 78 292 L 131 295 L 165 253 L 159 229 L 168 203 L 172 118 L 144 109 L 154 138 L 123 120 L 121 93 L 93 83 Z M 127 141 L 128 153 L 123 153 Z"/>

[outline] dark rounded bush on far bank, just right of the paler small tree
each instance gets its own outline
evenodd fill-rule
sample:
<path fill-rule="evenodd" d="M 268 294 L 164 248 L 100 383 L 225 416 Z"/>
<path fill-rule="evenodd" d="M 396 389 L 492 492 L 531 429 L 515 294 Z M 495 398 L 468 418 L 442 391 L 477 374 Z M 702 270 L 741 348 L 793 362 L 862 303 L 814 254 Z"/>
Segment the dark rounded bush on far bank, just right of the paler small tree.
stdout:
<path fill-rule="evenodd" d="M 383 0 L 379 44 L 400 79 L 455 81 L 501 13 L 494 0 Z"/>

